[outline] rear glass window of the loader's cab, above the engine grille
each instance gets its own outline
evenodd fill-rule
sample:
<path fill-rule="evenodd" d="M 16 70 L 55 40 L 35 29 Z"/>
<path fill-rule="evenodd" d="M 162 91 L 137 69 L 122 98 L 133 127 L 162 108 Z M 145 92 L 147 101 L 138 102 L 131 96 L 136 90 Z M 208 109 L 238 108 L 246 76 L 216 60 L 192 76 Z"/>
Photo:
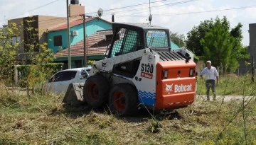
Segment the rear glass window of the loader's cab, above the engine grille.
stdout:
<path fill-rule="evenodd" d="M 168 37 L 164 30 L 149 30 L 146 33 L 147 47 L 168 47 Z"/>

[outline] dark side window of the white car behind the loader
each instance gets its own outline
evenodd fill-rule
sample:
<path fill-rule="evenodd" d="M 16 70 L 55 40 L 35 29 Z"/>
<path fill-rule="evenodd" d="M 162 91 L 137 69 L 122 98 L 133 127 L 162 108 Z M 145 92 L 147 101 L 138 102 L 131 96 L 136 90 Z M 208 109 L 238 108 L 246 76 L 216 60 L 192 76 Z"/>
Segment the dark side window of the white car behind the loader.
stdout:
<path fill-rule="evenodd" d="M 75 78 L 77 71 L 61 71 L 50 79 L 51 82 L 70 81 Z"/>

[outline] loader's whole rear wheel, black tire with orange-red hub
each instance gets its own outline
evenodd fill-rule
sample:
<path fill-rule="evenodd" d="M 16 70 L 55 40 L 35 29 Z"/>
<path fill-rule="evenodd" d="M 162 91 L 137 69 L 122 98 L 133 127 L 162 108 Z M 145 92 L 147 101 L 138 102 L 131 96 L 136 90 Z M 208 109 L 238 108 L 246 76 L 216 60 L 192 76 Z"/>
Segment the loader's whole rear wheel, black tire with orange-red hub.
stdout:
<path fill-rule="evenodd" d="M 119 83 L 110 91 L 110 110 L 119 116 L 136 115 L 138 112 L 138 93 L 129 83 Z"/>

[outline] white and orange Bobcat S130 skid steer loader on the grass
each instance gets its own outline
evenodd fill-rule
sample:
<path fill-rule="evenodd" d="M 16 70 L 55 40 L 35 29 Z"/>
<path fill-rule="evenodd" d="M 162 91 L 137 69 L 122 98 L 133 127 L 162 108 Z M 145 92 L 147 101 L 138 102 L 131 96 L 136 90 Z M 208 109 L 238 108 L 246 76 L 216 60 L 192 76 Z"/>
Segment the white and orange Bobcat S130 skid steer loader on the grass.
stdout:
<path fill-rule="evenodd" d="M 92 64 L 85 83 L 70 85 L 78 100 L 92 108 L 108 103 L 118 115 L 133 115 L 139 108 L 186 108 L 194 102 L 193 53 L 171 50 L 169 29 L 137 23 L 113 23 L 112 28 L 106 58 Z"/>

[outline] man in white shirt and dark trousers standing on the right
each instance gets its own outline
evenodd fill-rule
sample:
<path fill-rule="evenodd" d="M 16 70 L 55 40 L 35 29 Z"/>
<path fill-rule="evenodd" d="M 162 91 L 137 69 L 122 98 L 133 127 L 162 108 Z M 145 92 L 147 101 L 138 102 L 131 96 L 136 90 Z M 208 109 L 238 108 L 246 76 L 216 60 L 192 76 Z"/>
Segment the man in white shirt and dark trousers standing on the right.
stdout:
<path fill-rule="evenodd" d="M 215 93 L 215 78 L 217 79 L 217 84 L 219 84 L 218 71 L 215 67 L 211 66 L 211 62 L 206 62 L 207 67 L 201 72 L 201 79 L 203 79 L 203 74 L 206 75 L 206 95 L 207 100 L 210 100 L 210 88 L 213 91 L 213 100 L 216 100 Z"/>

